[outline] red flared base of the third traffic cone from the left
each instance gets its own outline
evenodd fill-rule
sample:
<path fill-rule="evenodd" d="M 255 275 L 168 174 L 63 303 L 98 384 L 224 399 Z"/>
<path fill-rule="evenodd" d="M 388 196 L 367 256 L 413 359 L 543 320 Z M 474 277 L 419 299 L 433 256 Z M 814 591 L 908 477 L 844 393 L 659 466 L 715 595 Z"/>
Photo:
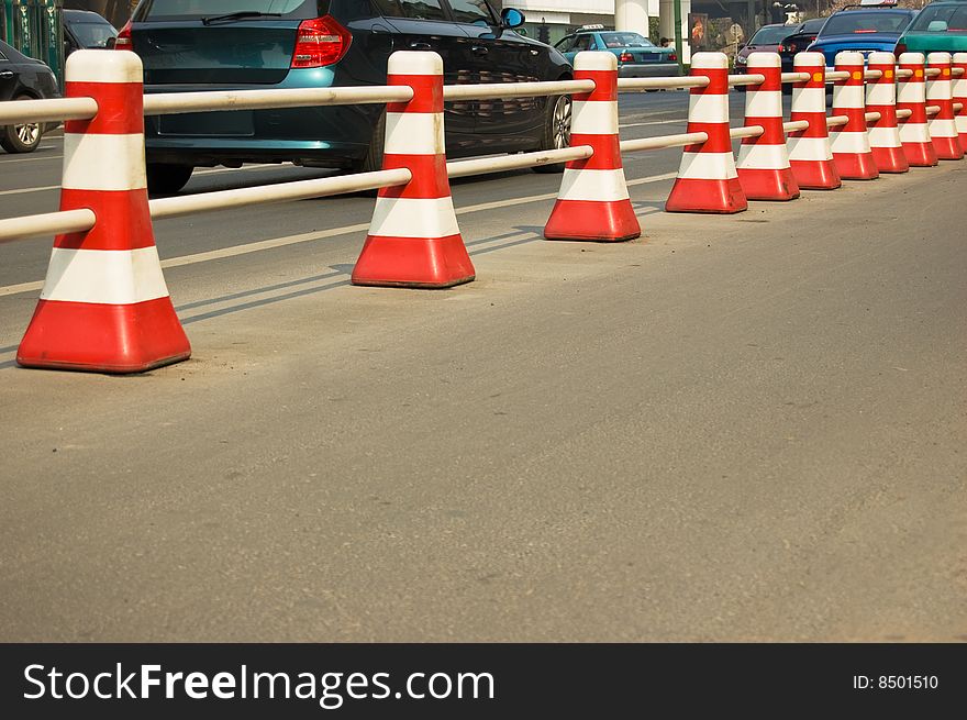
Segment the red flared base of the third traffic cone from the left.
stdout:
<path fill-rule="evenodd" d="M 558 200 L 544 225 L 546 240 L 622 243 L 641 234 L 631 200 Z"/>

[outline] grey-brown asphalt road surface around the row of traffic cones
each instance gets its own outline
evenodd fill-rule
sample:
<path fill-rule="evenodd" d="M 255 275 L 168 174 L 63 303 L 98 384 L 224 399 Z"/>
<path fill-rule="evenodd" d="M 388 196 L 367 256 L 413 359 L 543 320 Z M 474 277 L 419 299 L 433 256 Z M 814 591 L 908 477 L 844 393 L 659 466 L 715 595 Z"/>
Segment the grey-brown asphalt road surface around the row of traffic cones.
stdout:
<path fill-rule="evenodd" d="M 703 217 L 678 157 L 625 244 L 455 182 L 447 291 L 349 286 L 365 197 L 158 222 L 193 355 L 140 376 L 15 367 L 49 240 L 0 245 L 0 640 L 967 640 L 967 163 Z"/>

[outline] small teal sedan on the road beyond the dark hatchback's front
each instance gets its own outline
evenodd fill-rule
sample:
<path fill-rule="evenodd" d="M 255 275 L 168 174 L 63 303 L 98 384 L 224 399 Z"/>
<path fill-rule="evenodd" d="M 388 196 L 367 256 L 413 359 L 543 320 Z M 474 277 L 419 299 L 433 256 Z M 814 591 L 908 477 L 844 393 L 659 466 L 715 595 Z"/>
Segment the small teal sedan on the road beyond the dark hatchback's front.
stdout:
<path fill-rule="evenodd" d="M 658 47 L 644 35 L 630 31 L 605 31 L 604 25 L 585 25 L 554 45 L 569 63 L 581 51 L 603 51 L 618 58 L 618 76 L 659 77 L 681 75 L 674 47 Z"/>

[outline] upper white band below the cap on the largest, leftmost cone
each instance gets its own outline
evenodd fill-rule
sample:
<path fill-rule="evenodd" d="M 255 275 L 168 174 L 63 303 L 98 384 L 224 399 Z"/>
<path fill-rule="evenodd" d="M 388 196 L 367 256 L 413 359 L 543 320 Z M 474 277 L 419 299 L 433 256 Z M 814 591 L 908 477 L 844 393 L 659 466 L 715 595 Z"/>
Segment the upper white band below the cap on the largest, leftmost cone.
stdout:
<path fill-rule="evenodd" d="M 62 187 L 69 190 L 141 190 L 147 187 L 143 157 L 144 135 L 141 133 L 65 133 Z"/>

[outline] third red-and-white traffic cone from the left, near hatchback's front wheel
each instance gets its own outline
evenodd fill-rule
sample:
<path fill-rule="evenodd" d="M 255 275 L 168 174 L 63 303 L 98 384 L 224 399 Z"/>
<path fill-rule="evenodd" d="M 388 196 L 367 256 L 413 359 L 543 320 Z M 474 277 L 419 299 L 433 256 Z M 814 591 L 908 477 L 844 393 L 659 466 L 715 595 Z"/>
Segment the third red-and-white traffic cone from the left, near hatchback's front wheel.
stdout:
<path fill-rule="evenodd" d="M 575 79 L 594 89 L 574 96 L 571 146 L 590 145 L 591 157 L 569 162 L 544 226 L 547 240 L 620 242 L 642 234 L 627 195 L 618 136 L 618 58 L 578 53 Z"/>

